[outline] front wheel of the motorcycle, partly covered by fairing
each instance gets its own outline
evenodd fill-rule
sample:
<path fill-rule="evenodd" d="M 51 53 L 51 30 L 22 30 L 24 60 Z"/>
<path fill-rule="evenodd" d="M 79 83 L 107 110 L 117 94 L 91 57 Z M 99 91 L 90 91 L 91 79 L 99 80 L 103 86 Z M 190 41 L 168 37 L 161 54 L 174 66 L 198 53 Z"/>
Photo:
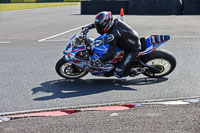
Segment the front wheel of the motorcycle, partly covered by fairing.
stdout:
<path fill-rule="evenodd" d="M 86 70 L 66 61 L 64 58 L 61 58 L 56 63 L 55 69 L 59 76 L 66 79 L 79 79 L 88 73 Z"/>

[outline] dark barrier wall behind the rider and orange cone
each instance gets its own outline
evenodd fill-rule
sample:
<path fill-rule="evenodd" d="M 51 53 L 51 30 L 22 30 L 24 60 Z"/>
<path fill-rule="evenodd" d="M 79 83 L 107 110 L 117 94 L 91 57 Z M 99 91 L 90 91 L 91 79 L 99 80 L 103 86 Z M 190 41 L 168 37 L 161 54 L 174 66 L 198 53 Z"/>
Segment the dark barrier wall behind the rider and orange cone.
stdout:
<path fill-rule="evenodd" d="M 81 1 L 81 14 L 124 8 L 129 15 L 200 15 L 200 0 L 91 0 Z"/>

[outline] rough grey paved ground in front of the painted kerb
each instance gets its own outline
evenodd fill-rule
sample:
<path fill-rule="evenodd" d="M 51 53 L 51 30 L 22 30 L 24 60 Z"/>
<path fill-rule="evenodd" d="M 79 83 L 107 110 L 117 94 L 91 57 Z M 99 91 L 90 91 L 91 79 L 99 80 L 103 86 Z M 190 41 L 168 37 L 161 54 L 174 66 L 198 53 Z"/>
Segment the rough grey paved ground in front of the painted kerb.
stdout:
<path fill-rule="evenodd" d="M 199 133 L 200 103 L 144 105 L 124 111 L 86 111 L 0 123 L 1 133 Z"/>

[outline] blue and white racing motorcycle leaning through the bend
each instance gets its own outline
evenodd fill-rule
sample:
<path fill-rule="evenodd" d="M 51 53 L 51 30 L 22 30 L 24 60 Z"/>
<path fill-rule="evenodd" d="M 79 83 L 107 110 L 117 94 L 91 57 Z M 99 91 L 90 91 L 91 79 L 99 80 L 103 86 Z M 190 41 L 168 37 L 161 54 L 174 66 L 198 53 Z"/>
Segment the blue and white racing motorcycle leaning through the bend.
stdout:
<path fill-rule="evenodd" d="M 80 31 L 68 41 L 64 56 L 56 63 L 58 75 L 66 79 L 79 79 L 91 73 L 94 76 L 111 77 L 117 62 L 121 61 L 124 51 L 116 48 L 116 55 L 110 61 L 93 66 L 90 60 L 98 60 L 108 52 L 109 44 L 106 43 L 107 34 L 96 39 L 88 38 L 87 33 Z M 140 38 L 141 52 L 129 67 L 134 70 L 127 76 L 144 74 L 151 78 L 161 78 L 170 74 L 176 67 L 176 59 L 167 50 L 157 50 L 159 46 L 170 40 L 169 35 L 151 35 Z"/>

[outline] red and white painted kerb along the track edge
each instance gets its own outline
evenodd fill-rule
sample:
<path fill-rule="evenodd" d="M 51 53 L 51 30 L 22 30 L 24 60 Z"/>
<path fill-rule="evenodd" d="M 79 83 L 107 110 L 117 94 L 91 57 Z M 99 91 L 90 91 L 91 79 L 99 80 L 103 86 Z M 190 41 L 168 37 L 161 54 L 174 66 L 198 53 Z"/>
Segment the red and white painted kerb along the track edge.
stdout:
<path fill-rule="evenodd" d="M 69 114 L 74 114 L 83 111 L 120 111 L 127 110 L 133 107 L 139 107 L 143 105 L 181 105 L 181 104 L 190 104 L 190 103 L 198 103 L 200 99 L 187 99 L 187 100 L 177 100 L 177 101 L 164 101 L 164 102 L 152 102 L 152 103 L 141 103 L 141 104 L 123 104 L 118 106 L 99 106 L 99 107 L 91 107 L 91 108 L 83 108 L 83 109 L 62 109 L 58 111 L 46 111 L 46 112 L 36 112 L 36 113 L 24 113 L 24 114 L 16 114 L 9 116 L 0 117 L 1 122 L 7 122 L 9 120 L 24 118 L 24 117 L 42 117 L 42 116 L 66 116 Z"/>

